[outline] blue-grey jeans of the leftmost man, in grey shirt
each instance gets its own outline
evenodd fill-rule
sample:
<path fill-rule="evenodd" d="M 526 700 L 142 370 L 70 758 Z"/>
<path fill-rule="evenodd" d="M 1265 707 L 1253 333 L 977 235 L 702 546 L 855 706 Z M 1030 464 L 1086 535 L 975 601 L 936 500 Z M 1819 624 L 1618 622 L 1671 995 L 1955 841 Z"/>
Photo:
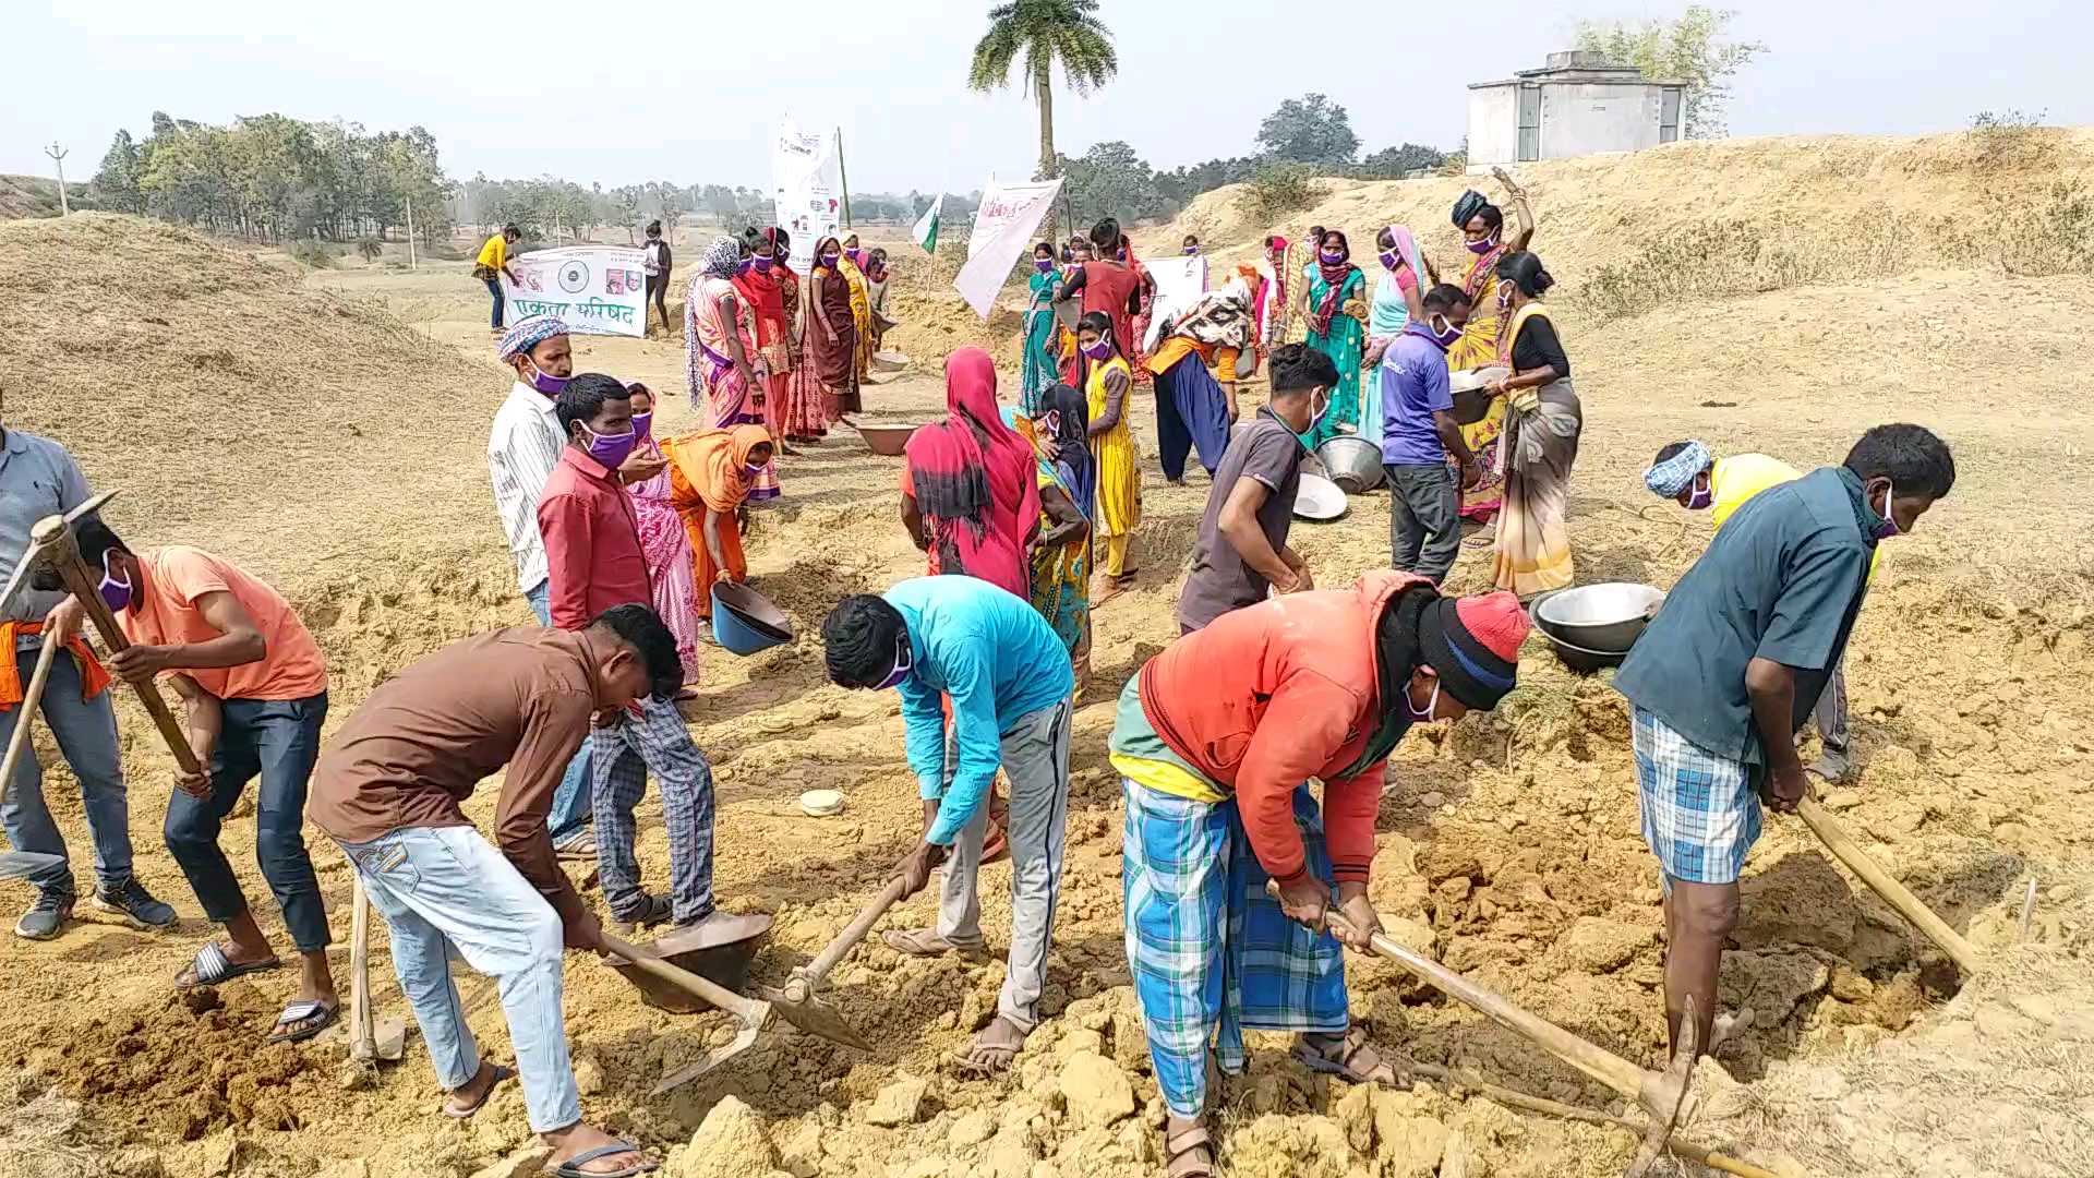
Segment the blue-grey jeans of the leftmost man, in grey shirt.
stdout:
<path fill-rule="evenodd" d="M 36 673 L 38 648 L 15 652 L 15 671 L 21 683 L 29 683 Z M 111 692 L 115 685 L 109 688 Z M 59 752 L 80 778 L 80 799 L 88 813 L 88 836 L 94 838 L 94 878 L 105 889 L 130 880 L 130 805 L 124 799 L 124 767 L 117 763 L 117 713 L 109 704 L 109 692 L 92 700 L 80 698 L 80 667 L 69 652 L 59 652 L 50 664 L 50 681 L 44 683 L 44 723 L 59 740 Z M 21 708 L 0 713 L 0 748 L 15 736 Z M 0 826 L 6 826 L 8 843 L 17 851 L 42 851 L 65 857 L 65 838 L 50 820 L 44 805 L 44 767 L 36 759 L 36 746 L 21 750 L 15 765 L 15 780 L 4 782 L 6 801 L 0 803 Z M 40 891 L 59 895 L 80 895 L 73 891 L 73 868 L 61 864 L 44 874 L 29 876 Z"/>

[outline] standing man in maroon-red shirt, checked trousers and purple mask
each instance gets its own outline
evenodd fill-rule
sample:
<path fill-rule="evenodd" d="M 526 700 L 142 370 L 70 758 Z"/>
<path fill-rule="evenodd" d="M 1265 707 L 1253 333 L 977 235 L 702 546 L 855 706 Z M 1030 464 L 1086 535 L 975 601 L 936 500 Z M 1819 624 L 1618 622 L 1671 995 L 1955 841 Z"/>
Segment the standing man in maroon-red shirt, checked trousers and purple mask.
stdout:
<path fill-rule="evenodd" d="M 603 373 L 567 381 L 555 407 L 567 446 L 538 497 L 551 616 L 557 629 L 582 629 L 611 606 L 647 606 L 653 591 L 632 501 L 618 463 L 637 442 L 632 398 Z M 735 916 L 712 901 L 712 767 L 691 742 L 676 702 L 649 696 L 614 713 L 591 736 L 591 805 L 597 815 L 597 872 L 611 920 L 632 933 L 664 920 L 674 931 L 666 954 L 758 937 L 768 916 Z M 647 771 L 662 782 L 668 826 L 670 895 L 641 889 L 632 855 L 632 807 L 647 792 Z"/>

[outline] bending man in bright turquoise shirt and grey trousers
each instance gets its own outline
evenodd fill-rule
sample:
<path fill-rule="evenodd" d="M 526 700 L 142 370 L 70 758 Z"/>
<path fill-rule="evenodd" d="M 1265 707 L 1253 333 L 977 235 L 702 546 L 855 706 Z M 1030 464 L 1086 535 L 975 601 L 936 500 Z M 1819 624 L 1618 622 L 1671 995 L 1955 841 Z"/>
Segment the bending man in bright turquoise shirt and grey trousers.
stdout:
<path fill-rule="evenodd" d="M 833 683 L 903 694 L 909 769 L 923 797 L 923 838 L 896 866 L 909 895 L 951 855 L 938 926 L 888 931 L 888 945 L 923 958 L 982 947 L 984 803 L 999 767 L 1011 782 L 1011 960 L 997 1019 L 961 1054 L 976 1071 L 1007 1069 L 1039 1025 L 1062 891 L 1076 702 L 1068 650 L 1030 602 L 974 576 L 919 576 L 884 597 L 844 597 L 821 639 Z M 951 750 L 940 698 L 953 706 Z"/>

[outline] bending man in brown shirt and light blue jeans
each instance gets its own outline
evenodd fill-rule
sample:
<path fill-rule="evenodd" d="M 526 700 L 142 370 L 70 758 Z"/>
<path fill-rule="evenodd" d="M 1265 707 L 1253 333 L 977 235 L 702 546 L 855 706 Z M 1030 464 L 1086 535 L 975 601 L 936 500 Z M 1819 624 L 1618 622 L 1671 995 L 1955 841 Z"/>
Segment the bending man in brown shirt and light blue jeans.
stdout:
<path fill-rule="evenodd" d="M 469 637 L 373 692 L 314 773 L 306 813 L 350 855 L 385 916 L 400 989 L 452 1094 L 444 1113 L 477 1113 L 511 1075 L 480 1059 L 465 1025 L 446 950 L 456 945 L 465 964 L 500 985 L 530 1128 L 561 1172 L 632 1174 L 647 1159 L 582 1124 L 561 1019 L 561 947 L 605 945 L 553 857 L 544 815 L 597 713 L 681 683 L 676 637 L 647 606 L 605 610 L 582 631 Z M 461 803 L 503 765 L 496 851 Z"/>

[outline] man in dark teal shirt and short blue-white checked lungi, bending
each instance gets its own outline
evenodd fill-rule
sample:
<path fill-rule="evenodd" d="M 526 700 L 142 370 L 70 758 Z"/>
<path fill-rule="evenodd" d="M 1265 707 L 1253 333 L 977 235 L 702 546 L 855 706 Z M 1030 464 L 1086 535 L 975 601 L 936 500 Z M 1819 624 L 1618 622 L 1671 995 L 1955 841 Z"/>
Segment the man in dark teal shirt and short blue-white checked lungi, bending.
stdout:
<path fill-rule="evenodd" d="M 1746 499 L 1621 664 L 1644 841 L 1665 870 L 1675 1046 L 1690 998 L 1696 1042 L 1713 1046 L 1717 970 L 1761 797 L 1786 813 L 1809 790 L 1797 732 L 1847 652 L 1876 545 L 1910 532 L 1954 484 L 1941 438 L 1876 426 L 1843 465 Z"/>

